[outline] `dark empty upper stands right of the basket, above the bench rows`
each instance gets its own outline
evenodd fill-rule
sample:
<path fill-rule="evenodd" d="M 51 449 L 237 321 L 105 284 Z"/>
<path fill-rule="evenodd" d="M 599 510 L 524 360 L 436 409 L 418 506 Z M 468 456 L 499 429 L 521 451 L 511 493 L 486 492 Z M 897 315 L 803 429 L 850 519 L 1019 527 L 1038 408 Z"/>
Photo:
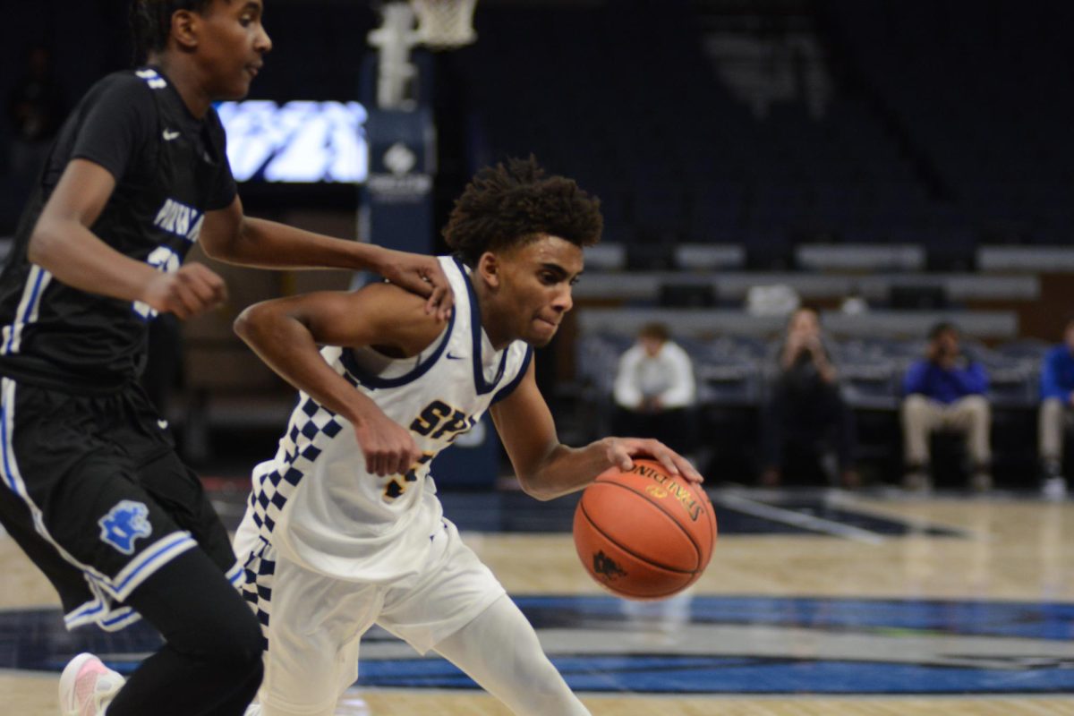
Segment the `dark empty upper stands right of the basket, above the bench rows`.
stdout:
<path fill-rule="evenodd" d="M 764 117 L 705 55 L 698 3 L 484 6 L 461 55 L 470 160 L 533 151 L 604 200 L 607 240 L 741 244 L 750 268 L 793 267 L 801 242 L 916 244 L 943 271 L 984 240 L 1066 242 L 1071 56 L 1018 39 L 1071 9 L 874 4 L 813 3 L 832 96 Z"/>

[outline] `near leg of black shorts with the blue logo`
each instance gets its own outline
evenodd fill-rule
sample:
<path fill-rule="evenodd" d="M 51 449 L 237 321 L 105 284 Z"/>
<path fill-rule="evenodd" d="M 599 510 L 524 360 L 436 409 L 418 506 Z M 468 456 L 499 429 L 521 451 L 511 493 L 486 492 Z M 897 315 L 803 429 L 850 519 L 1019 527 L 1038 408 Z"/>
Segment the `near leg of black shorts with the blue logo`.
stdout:
<path fill-rule="evenodd" d="M 129 454 L 100 432 L 111 398 L 0 382 L 4 499 L 60 558 L 122 599 L 192 545 L 139 484 Z"/>

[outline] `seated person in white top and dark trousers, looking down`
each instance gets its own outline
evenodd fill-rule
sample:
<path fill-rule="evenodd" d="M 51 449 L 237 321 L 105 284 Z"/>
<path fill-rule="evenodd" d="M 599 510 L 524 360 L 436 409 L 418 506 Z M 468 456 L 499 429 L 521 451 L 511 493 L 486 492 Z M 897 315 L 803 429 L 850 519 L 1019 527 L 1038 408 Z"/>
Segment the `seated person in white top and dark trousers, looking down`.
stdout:
<path fill-rule="evenodd" d="M 621 435 L 655 438 L 690 454 L 694 449 L 690 408 L 696 395 L 690 355 L 662 323 L 644 325 L 637 342 L 619 360 L 613 428 Z"/>

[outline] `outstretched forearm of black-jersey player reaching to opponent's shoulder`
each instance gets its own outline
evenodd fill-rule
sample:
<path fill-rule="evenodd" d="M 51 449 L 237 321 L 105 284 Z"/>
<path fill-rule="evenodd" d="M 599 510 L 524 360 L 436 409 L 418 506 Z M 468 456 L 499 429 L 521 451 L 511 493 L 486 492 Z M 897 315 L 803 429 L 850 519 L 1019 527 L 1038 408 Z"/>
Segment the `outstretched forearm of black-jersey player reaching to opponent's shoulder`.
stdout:
<path fill-rule="evenodd" d="M 260 268 L 380 268 L 384 249 L 244 217 L 230 240 L 206 245 L 214 259 Z"/>

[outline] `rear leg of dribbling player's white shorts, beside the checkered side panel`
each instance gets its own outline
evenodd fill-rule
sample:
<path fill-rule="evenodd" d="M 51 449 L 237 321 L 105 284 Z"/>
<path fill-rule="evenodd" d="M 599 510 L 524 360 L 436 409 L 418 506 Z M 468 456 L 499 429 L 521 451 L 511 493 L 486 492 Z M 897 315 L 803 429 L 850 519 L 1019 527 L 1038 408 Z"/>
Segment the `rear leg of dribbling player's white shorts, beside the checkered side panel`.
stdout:
<path fill-rule="evenodd" d="M 274 554 L 259 559 L 274 562 L 271 579 L 258 579 L 266 642 L 260 700 L 273 713 L 331 714 L 358 677 L 359 639 L 376 618 L 382 590 L 324 576 Z"/>

